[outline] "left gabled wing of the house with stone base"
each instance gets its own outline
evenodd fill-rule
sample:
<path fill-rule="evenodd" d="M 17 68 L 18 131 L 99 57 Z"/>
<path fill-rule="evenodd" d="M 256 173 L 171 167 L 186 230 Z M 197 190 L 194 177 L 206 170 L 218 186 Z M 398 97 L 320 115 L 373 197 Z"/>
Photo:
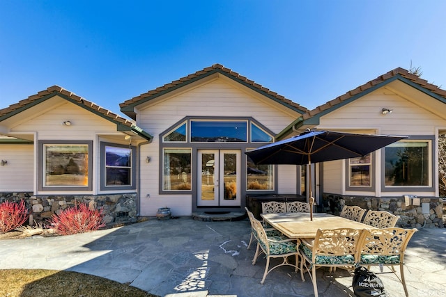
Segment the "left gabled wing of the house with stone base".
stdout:
<path fill-rule="evenodd" d="M 132 120 L 52 86 L 1 109 L 0 134 L 1 200 L 25 198 L 35 220 L 77 202 L 136 220 L 137 143 L 152 136 Z"/>

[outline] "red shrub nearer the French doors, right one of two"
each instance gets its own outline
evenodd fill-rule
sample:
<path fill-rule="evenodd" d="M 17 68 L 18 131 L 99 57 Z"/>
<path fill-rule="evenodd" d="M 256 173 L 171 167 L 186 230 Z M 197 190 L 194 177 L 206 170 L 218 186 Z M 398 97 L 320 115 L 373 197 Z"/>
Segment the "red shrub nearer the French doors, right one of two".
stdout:
<path fill-rule="evenodd" d="M 86 204 L 81 203 L 77 207 L 68 207 L 59 215 L 53 214 L 49 223 L 59 234 L 77 234 L 104 227 L 102 217 L 102 209 L 100 211 L 97 209 L 91 210 Z"/>

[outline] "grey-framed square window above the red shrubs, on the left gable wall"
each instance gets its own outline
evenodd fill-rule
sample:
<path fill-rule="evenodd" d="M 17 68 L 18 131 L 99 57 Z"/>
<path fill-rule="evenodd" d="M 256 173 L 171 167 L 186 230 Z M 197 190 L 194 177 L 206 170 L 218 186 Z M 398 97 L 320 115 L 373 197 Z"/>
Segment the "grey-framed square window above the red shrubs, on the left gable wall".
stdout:
<path fill-rule="evenodd" d="M 40 141 L 41 191 L 91 190 L 91 141 Z"/>

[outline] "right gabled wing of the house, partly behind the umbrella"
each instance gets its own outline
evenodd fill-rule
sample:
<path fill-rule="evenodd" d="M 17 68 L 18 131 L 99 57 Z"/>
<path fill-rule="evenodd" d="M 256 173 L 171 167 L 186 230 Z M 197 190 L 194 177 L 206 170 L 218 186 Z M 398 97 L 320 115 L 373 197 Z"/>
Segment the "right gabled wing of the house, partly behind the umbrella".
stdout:
<path fill-rule="evenodd" d="M 401 225 L 442 225 L 438 139 L 446 131 L 445 103 L 445 90 L 397 68 L 305 113 L 277 139 L 305 129 L 409 136 L 364 158 L 317 164 L 318 202 L 325 211 L 362 204 L 398 214 Z"/>

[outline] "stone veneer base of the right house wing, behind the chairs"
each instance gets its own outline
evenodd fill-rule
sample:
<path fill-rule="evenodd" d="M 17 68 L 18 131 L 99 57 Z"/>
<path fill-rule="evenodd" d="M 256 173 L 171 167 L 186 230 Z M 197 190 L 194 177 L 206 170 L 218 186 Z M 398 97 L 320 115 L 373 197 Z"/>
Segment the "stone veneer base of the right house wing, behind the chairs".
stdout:
<path fill-rule="evenodd" d="M 429 214 L 422 213 L 422 203 L 429 203 Z M 344 205 L 357 205 L 363 209 L 383 210 L 400 216 L 397 227 L 445 227 L 446 200 L 420 198 L 420 206 L 406 205 L 404 197 L 377 198 L 343 196 L 324 193 L 321 211 L 339 216 Z"/>

